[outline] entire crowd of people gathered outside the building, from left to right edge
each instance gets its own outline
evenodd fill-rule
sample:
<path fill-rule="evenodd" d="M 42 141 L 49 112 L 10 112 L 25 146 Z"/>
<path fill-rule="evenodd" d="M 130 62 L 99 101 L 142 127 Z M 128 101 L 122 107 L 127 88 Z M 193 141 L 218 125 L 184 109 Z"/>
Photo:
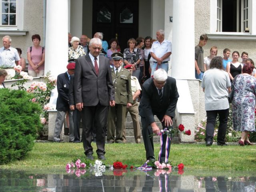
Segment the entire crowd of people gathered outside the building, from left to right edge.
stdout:
<path fill-rule="evenodd" d="M 10 80 L 15 75 L 13 67 L 20 65 L 25 70 L 26 61 L 21 57 L 20 48 L 10 46 L 10 36 L 4 36 L 2 40 L 0 88 L 5 88 L 4 80 Z M 32 35 L 33 46 L 27 50 L 28 74 L 33 77 L 44 75 L 45 49 L 40 46 L 40 40 L 38 34 Z M 223 58 L 216 56 L 217 46 L 212 46 L 210 55 L 204 58 L 203 46 L 207 40 L 206 35 L 201 35 L 195 47 L 195 77 L 202 80 L 205 93 L 206 146 L 212 145 L 217 115 L 220 121 L 218 145 L 226 145 L 229 92 L 234 92 L 234 130 L 242 131 L 239 144 L 251 145 L 248 133 L 255 131 L 254 62 L 248 58 L 248 53 L 242 52 L 240 63 L 237 51 L 232 53 L 230 60 L 228 48 L 223 50 Z M 94 159 L 91 143 L 96 142 L 98 158 L 104 160 L 105 136 L 109 144 L 126 142 L 125 122 L 130 112 L 136 143 L 140 143 L 138 115 L 141 116 L 146 158 L 153 160 L 154 146 L 150 135 L 160 133 L 154 115 L 162 122 L 163 128 L 169 129 L 179 97 L 175 79 L 167 76 L 172 44 L 164 38 L 164 30 L 158 30 L 156 40 L 150 36 L 130 38 L 123 54 L 120 50 L 118 40 L 114 38 L 109 41 L 108 49 L 101 32 L 96 32 L 92 39 L 84 34 L 80 38 L 72 37 L 68 33 L 67 71 L 57 78 L 57 117 L 53 140 L 60 142 L 66 116 L 70 142 L 83 142 L 88 159 Z M 79 131 L 81 119 L 82 140 Z M 166 162 L 170 150 L 168 138 L 165 137 L 163 142 L 168 147 L 161 149 L 159 160 Z"/>

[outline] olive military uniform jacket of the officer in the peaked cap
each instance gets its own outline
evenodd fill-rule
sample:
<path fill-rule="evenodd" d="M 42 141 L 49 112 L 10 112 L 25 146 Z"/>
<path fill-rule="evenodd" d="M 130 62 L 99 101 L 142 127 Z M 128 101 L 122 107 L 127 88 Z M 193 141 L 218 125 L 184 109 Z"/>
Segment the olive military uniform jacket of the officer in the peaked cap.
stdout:
<path fill-rule="evenodd" d="M 121 67 L 120 72 L 116 76 L 113 67 L 111 69 L 111 75 L 115 89 L 116 104 L 126 105 L 128 102 L 133 103 L 130 71 Z"/>

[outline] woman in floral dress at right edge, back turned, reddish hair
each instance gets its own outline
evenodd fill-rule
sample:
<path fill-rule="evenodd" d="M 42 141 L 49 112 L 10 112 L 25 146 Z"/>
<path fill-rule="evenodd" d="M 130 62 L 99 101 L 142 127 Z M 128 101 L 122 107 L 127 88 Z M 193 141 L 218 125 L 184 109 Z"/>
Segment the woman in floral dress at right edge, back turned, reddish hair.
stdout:
<path fill-rule="evenodd" d="M 254 66 L 246 63 L 242 74 L 237 75 L 234 85 L 234 97 L 232 100 L 233 128 L 242 131 L 241 146 L 251 145 L 248 134 L 255 131 L 255 94 L 256 78 L 251 76 Z"/>

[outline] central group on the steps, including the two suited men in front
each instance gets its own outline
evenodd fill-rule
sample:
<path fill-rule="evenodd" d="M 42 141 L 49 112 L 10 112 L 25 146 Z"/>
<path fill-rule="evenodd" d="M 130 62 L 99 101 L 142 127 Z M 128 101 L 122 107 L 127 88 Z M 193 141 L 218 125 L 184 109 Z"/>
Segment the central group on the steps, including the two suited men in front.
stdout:
<path fill-rule="evenodd" d="M 150 134 L 157 134 L 160 129 L 151 117 L 157 115 L 162 126 L 169 129 L 179 97 L 175 79 L 167 76 L 171 42 L 164 39 L 164 31 L 156 32 L 157 40 L 154 42 L 149 36 L 146 40 L 130 38 L 123 54 L 116 39 L 110 40 L 110 48 L 107 49 L 108 44 L 100 32 L 95 33 L 92 39 L 86 35 L 80 39 L 68 35 L 68 70 L 57 78 L 54 142 L 60 142 L 61 125 L 66 114 L 70 142 L 83 142 L 88 159 L 94 159 L 91 143 L 96 142 L 98 158 L 104 160 L 105 136 L 108 144 L 126 142 L 125 122 L 130 112 L 134 139 L 140 143 L 138 99 L 143 94 L 140 102 L 140 116 L 144 117 L 142 135 L 146 158 L 154 159 Z M 154 104 L 150 106 L 151 103 Z M 79 133 L 81 119 L 82 140 Z M 153 130 L 151 126 L 149 129 L 150 124 Z M 170 147 L 162 149 L 161 162 L 167 162 L 164 157 L 169 150 Z"/>

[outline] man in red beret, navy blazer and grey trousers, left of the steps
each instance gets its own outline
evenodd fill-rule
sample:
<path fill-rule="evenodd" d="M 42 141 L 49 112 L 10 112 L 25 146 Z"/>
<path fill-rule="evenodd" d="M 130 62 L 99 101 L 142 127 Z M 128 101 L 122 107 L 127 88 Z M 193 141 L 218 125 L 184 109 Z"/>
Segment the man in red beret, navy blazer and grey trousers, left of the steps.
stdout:
<path fill-rule="evenodd" d="M 69 63 L 67 65 L 68 71 L 59 74 L 57 77 L 57 90 L 58 98 L 56 103 L 57 117 L 55 120 L 55 128 L 53 140 L 54 142 L 60 142 L 60 133 L 65 120 L 66 112 L 68 111 L 69 118 L 69 141 L 74 142 L 74 126 L 73 126 L 73 113 L 69 108 L 68 103 L 68 91 L 70 84 L 70 76 L 74 74 L 75 64 Z"/>

